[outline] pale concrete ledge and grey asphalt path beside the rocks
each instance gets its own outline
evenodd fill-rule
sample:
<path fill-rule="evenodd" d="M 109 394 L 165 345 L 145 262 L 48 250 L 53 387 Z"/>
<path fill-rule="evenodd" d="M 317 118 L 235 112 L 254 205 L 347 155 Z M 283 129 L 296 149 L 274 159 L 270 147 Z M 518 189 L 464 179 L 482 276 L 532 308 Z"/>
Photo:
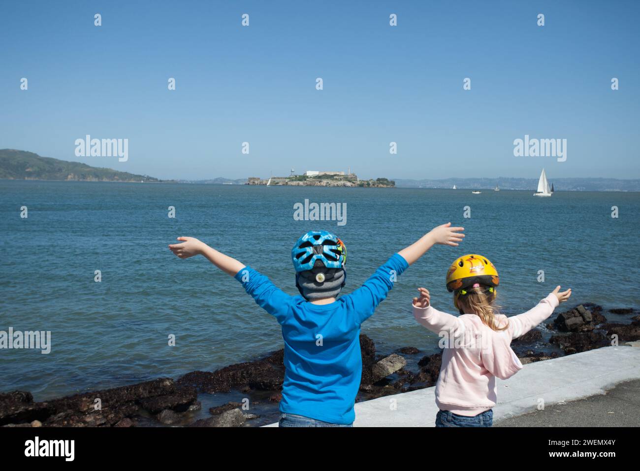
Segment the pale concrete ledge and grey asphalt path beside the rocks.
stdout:
<path fill-rule="evenodd" d="M 497 380 L 494 424 L 609 426 L 615 422 L 640 426 L 640 382 L 620 385 L 609 397 L 602 397 L 614 385 L 634 379 L 640 379 L 640 348 L 628 345 L 530 363 L 506 381 Z M 360 402 L 355 406 L 354 426 L 433 427 L 438 411 L 434 394 L 435 387 Z M 582 398 L 589 399 L 563 404 Z M 539 404 L 544 404 L 544 410 L 538 410 Z M 604 409 L 611 410 L 604 414 Z M 555 412 L 558 410 L 561 412 Z"/>

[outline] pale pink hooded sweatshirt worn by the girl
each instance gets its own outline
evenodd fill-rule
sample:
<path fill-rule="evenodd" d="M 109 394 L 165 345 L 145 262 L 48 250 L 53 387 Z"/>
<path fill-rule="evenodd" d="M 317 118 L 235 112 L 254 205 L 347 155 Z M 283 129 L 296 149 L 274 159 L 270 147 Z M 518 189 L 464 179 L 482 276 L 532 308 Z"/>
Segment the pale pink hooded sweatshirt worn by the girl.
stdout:
<path fill-rule="evenodd" d="M 431 306 L 413 306 L 416 320 L 438 334 L 438 345 L 444 348 L 436 383 L 438 408 L 473 417 L 495 406 L 495 377 L 507 379 L 522 369 L 520 359 L 511 350 L 511 340 L 540 324 L 557 305 L 558 299 L 551 293 L 524 314 L 509 318 L 497 315 L 500 327 L 509 322 L 504 331 L 494 331 L 475 314 L 457 317 Z"/>

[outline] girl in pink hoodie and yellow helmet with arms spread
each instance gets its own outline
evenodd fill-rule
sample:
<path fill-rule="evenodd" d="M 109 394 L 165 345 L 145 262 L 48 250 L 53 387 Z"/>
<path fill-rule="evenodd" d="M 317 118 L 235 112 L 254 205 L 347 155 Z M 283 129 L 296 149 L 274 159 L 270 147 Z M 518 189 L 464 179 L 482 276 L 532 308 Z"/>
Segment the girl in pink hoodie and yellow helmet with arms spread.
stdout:
<path fill-rule="evenodd" d="M 495 377 L 507 379 L 522 368 L 511 340 L 524 335 L 569 299 L 560 286 L 524 314 L 506 317 L 495 305 L 498 272 L 486 258 L 469 254 L 452 263 L 447 290 L 460 316 L 435 310 L 428 290 L 413 298 L 416 320 L 440 336 L 444 349 L 436 383 L 436 427 L 491 427 L 496 401 Z"/>

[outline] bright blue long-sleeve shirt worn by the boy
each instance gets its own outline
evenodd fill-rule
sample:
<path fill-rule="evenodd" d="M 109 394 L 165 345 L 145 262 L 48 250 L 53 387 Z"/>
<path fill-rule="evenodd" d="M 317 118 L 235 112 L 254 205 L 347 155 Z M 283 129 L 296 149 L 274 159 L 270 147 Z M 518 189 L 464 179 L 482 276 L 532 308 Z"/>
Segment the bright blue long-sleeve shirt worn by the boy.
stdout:
<path fill-rule="evenodd" d="M 395 254 L 353 293 L 322 305 L 288 295 L 250 267 L 236 274 L 246 292 L 282 326 L 282 413 L 333 424 L 355 420 L 353 405 L 362 376 L 360 324 L 408 266 Z"/>

